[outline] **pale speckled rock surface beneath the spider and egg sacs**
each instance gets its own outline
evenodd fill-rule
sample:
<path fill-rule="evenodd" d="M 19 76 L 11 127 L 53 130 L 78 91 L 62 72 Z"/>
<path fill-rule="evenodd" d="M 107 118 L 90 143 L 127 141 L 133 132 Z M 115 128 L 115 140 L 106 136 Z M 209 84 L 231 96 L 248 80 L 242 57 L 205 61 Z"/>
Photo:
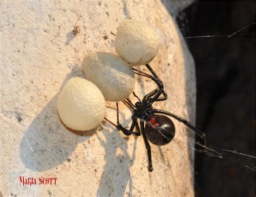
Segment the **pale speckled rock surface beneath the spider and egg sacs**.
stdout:
<path fill-rule="evenodd" d="M 3 196 L 193 196 L 191 132 L 183 124 L 173 121 L 170 144 L 151 145 L 149 173 L 142 137 L 127 138 L 107 122 L 90 131 L 68 130 L 57 113 L 62 87 L 72 77 L 84 77 L 84 55 L 116 53 L 117 27 L 132 18 L 165 38 L 151 66 L 169 99 L 153 106 L 194 122 L 193 59 L 160 1 L 4 1 L 0 16 Z M 147 72 L 145 66 L 136 68 Z M 140 98 L 154 88 L 150 79 L 136 75 Z M 106 105 L 107 118 L 116 122 L 115 103 Z M 120 102 L 119 110 L 122 124 L 130 125 L 130 109 Z M 20 185 L 20 177 L 36 178 L 37 185 Z M 49 177 L 57 178 L 56 185 L 39 185 L 39 178 Z"/>

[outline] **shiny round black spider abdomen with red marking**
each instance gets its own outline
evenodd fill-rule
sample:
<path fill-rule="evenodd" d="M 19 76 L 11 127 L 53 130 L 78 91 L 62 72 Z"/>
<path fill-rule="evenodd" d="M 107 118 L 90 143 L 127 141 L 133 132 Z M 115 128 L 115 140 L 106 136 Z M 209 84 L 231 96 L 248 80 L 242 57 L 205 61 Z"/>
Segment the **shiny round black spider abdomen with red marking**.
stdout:
<path fill-rule="evenodd" d="M 175 126 L 170 118 L 154 115 L 146 122 L 145 133 L 152 144 L 161 146 L 171 142 L 175 134 Z"/>

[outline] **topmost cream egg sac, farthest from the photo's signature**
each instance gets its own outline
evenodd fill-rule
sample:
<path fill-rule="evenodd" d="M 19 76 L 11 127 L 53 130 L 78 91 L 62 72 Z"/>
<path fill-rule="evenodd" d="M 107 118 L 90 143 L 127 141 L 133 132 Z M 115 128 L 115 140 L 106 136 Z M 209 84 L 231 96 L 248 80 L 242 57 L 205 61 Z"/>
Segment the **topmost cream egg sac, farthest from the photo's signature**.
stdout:
<path fill-rule="evenodd" d="M 123 20 L 116 33 L 117 53 L 131 65 L 145 65 L 156 57 L 159 36 L 156 29 L 137 20 Z"/>

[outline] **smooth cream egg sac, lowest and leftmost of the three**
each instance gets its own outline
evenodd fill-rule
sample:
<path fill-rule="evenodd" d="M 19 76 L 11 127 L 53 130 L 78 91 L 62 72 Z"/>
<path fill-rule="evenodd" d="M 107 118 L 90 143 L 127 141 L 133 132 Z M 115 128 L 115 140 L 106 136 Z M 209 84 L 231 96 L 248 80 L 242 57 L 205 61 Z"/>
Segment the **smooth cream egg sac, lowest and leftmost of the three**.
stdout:
<path fill-rule="evenodd" d="M 106 104 L 104 96 L 92 82 L 71 78 L 59 93 L 57 109 L 66 126 L 84 131 L 103 121 Z"/>

